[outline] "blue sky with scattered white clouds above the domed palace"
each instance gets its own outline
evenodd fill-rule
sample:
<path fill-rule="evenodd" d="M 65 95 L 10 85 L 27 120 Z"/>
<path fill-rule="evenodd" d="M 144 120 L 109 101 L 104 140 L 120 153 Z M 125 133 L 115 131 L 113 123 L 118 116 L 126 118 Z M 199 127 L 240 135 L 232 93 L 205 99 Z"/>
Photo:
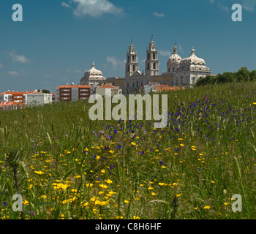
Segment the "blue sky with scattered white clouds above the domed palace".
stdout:
<path fill-rule="evenodd" d="M 13 4 L 23 7 L 23 22 L 12 21 Z M 233 4 L 243 6 L 233 22 Z M 107 77 L 124 76 L 133 39 L 139 69 L 154 35 L 159 71 L 176 41 L 181 58 L 195 54 L 212 73 L 256 69 L 255 0 L 1 0 L 0 91 L 55 91 L 79 83 L 95 67 Z"/>

